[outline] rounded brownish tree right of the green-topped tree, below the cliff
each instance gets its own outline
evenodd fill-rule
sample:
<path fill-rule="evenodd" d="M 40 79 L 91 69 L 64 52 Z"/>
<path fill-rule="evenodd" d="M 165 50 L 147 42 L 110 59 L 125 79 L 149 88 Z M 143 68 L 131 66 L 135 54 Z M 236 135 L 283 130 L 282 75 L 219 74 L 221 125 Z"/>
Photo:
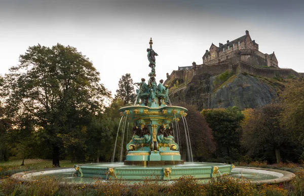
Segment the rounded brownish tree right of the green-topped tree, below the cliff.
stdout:
<path fill-rule="evenodd" d="M 250 156 L 271 162 L 276 157 L 279 163 L 281 152 L 287 154 L 296 146 L 288 129 L 280 124 L 281 112 L 278 104 L 247 111 L 246 120 L 242 122 L 242 145 Z"/>

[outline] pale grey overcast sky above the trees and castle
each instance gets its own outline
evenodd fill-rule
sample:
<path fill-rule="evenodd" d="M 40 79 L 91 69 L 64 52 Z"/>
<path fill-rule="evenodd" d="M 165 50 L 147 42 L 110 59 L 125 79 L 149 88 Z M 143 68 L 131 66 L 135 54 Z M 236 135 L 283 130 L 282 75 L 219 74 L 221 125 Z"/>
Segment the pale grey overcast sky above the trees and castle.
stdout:
<path fill-rule="evenodd" d="M 148 79 L 150 38 L 156 80 L 178 67 L 202 64 L 211 43 L 249 31 L 259 51 L 273 51 L 280 68 L 303 73 L 304 1 L 298 0 L 0 0 L 0 74 L 29 46 L 57 43 L 86 55 L 101 83 L 116 93 L 119 79 Z"/>

